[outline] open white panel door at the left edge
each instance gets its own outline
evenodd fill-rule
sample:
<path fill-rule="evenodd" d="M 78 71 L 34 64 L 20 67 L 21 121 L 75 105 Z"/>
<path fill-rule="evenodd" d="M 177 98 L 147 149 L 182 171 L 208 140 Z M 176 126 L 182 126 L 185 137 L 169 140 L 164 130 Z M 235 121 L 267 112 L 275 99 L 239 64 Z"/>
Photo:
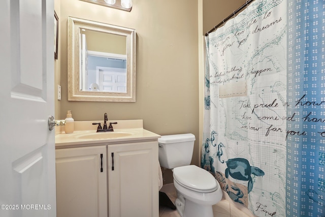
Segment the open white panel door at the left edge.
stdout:
<path fill-rule="evenodd" d="M 0 1 L 0 216 L 56 216 L 53 0 Z"/>

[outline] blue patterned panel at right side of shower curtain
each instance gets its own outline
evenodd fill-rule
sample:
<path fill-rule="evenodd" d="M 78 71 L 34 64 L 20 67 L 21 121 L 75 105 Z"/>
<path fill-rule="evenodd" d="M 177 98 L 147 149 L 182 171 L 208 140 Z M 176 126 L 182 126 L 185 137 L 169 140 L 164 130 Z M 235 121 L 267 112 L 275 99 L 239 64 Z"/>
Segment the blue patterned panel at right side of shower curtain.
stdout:
<path fill-rule="evenodd" d="M 286 216 L 325 216 L 325 1 L 288 1 Z"/>

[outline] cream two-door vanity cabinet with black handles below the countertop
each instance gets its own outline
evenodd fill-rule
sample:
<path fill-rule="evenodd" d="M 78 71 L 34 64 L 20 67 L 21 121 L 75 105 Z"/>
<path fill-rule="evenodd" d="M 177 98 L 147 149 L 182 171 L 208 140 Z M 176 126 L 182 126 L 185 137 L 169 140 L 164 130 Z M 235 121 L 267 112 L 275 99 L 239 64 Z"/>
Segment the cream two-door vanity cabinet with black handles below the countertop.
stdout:
<path fill-rule="evenodd" d="M 57 217 L 158 217 L 158 141 L 103 144 L 56 149 Z"/>

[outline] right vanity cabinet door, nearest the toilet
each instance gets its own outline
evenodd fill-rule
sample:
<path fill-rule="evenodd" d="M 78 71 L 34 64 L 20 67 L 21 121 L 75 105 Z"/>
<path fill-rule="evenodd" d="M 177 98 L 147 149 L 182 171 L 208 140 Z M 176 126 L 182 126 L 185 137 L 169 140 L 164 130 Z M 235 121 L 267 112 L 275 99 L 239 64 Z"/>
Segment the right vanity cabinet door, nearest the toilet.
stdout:
<path fill-rule="evenodd" d="M 158 142 L 108 145 L 108 177 L 110 217 L 158 216 Z"/>

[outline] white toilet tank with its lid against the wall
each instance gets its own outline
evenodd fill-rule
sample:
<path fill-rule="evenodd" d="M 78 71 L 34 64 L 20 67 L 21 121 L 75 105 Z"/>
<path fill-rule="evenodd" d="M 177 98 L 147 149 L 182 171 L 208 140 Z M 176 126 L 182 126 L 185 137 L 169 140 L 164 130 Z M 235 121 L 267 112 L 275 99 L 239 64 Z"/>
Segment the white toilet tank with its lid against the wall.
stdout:
<path fill-rule="evenodd" d="M 193 134 L 176 134 L 161 136 L 158 139 L 160 166 L 174 169 L 190 165 L 195 136 Z"/>

